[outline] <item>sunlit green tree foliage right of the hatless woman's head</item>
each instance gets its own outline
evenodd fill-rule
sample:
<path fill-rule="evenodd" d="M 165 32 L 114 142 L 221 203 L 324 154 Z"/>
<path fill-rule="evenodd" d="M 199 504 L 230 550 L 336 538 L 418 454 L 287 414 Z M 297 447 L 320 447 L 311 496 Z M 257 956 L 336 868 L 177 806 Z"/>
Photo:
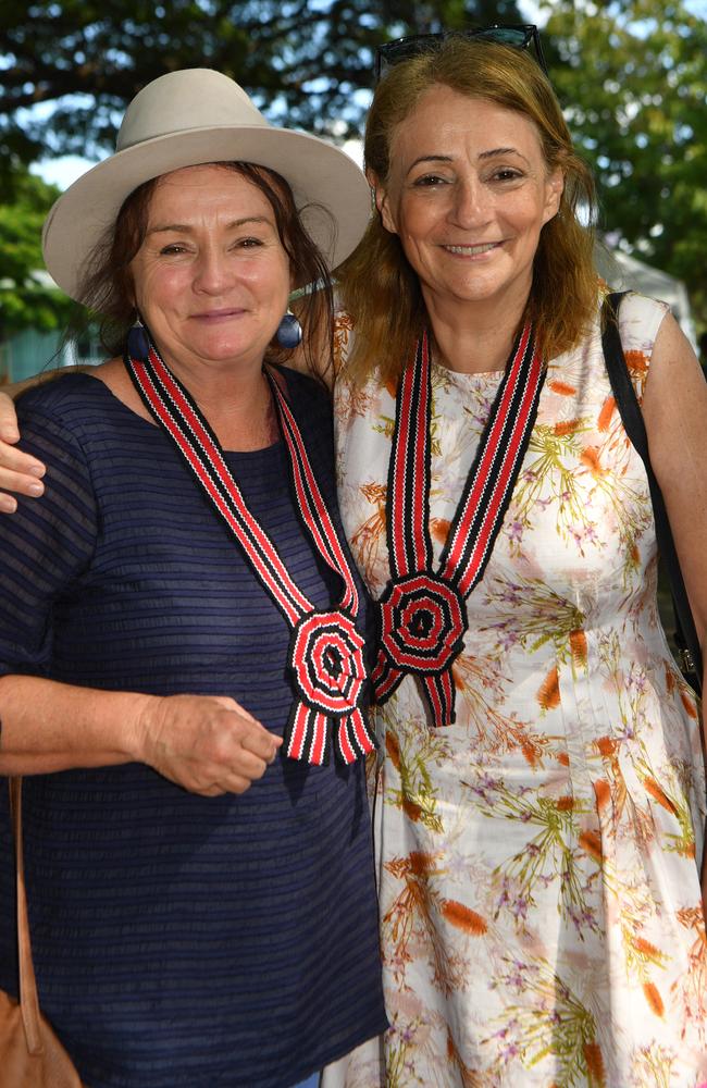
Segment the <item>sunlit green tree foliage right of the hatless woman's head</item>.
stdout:
<path fill-rule="evenodd" d="M 600 225 L 684 280 L 707 326 L 707 22 L 681 0 L 546 7 L 551 77 L 595 170 Z"/>

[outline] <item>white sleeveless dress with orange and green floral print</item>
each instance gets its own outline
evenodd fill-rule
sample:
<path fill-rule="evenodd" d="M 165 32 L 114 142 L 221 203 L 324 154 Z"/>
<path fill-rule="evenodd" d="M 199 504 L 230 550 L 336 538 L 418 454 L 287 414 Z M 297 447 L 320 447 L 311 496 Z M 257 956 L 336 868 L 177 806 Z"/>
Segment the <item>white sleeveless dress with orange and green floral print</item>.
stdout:
<path fill-rule="evenodd" d="M 631 295 L 641 393 L 666 307 Z M 339 505 L 379 597 L 394 390 L 335 396 Z M 433 371 L 438 561 L 498 373 Z M 656 603 L 643 463 L 595 326 L 553 360 L 431 729 L 407 677 L 377 712 L 375 838 L 390 1029 L 348 1088 L 695 1088 L 707 1079 L 698 709 Z M 385 1062 L 383 1072 L 382 1061 Z M 332 1079 L 327 1083 L 337 1083 Z"/>

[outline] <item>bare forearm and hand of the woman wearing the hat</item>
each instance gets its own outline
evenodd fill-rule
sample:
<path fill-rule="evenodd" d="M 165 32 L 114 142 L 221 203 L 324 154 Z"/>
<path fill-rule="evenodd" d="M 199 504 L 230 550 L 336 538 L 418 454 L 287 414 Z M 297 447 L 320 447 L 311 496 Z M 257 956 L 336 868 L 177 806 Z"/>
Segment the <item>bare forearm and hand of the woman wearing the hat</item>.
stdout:
<path fill-rule="evenodd" d="M 0 775 L 139 762 L 194 793 L 243 793 L 282 743 L 234 700 L 0 679 Z"/>

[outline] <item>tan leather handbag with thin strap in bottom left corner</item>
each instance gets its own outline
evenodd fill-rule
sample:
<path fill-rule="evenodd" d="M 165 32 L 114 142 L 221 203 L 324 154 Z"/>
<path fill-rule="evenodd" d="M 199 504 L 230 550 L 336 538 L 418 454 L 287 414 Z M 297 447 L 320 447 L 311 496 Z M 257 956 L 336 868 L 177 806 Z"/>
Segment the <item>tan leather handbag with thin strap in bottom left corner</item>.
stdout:
<path fill-rule="evenodd" d="M 0 990 L 0 1085 L 3 1088 L 82 1088 L 72 1060 L 39 1011 L 25 892 L 22 779 L 11 778 L 9 786 L 17 880 L 20 1001 Z"/>

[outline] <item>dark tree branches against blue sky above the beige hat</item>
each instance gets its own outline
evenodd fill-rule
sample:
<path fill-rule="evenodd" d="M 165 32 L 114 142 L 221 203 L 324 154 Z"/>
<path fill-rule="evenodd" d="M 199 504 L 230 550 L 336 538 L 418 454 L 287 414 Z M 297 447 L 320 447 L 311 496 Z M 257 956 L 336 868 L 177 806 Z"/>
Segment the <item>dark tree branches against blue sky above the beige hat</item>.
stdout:
<path fill-rule="evenodd" d="M 92 158 L 145 84 L 195 66 L 233 76 L 271 118 L 336 122 L 343 137 L 359 129 L 379 42 L 496 20 L 522 22 L 514 0 L 3 0 L 0 151 Z"/>

